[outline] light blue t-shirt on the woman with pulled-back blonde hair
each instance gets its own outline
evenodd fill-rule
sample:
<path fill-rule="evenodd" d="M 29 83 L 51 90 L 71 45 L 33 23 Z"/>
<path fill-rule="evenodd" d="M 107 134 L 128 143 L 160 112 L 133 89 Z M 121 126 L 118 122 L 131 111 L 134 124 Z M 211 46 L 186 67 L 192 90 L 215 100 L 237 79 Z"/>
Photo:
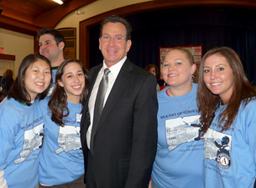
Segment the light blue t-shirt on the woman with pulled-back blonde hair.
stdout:
<path fill-rule="evenodd" d="M 196 105 L 197 84 L 188 94 L 158 94 L 158 147 L 152 179 L 159 188 L 201 188 L 204 143 Z"/>

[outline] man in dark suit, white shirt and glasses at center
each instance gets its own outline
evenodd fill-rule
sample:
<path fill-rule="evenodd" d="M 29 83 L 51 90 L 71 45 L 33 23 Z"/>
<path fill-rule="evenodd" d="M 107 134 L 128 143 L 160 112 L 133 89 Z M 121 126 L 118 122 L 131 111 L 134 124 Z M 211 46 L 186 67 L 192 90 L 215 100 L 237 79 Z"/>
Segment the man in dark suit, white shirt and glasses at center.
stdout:
<path fill-rule="evenodd" d="M 157 145 L 156 79 L 128 60 L 132 42 L 126 19 L 115 15 L 104 19 L 100 36 L 104 61 L 90 70 L 81 118 L 86 188 L 146 188 Z M 97 115 L 98 89 L 106 68 L 110 73 L 104 107 Z"/>

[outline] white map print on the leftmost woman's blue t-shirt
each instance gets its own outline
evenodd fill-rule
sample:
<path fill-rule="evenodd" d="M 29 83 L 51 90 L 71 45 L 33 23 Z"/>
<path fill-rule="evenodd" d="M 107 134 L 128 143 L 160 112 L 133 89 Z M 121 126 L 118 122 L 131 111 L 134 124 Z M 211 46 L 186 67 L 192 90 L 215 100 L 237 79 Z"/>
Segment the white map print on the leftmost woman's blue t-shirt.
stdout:
<path fill-rule="evenodd" d="M 43 138 L 44 138 L 44 123 L 35 126 L 32 130 L 24 131 L 24 146 L 23 150 L 20 152 L 20 158 L 14 160 L 16 165 L 22 163 L 24 160 L 27 160 L 29 155 L 34 150 L 39 150 L 42 147 Z"/>

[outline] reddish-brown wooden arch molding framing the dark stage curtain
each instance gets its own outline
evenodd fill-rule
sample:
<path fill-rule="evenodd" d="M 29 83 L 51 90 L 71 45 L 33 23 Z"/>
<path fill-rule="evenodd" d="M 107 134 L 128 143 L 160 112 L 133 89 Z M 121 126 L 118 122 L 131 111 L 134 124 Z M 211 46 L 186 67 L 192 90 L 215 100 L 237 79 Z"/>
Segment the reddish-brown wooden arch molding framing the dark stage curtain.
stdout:
<path fill-rule="evenodd" d="M 92 26 L 101 23 L 102 19 L 107 18 L 112 14 L 118 14 L 126 17 L 136 13 L 145 13 L 159 9 L 207 6 L 254 9 L 256 8 L 256 2 L 255 0 L 154 0 L 151 2 L 137 3 L 122 8 L 116 8 L 80 22 L 79 58 L 85 65 L 86 69 L 89 69 L 89 29 Z"/>

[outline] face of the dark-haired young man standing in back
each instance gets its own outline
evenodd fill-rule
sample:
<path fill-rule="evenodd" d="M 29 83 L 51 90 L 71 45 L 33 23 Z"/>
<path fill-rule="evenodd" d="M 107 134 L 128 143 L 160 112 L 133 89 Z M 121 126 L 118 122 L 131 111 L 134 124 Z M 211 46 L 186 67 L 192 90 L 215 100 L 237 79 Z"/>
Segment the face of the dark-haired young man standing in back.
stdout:
<path fill-rule="evenodd" d="M 39 53 L 44 57 L 49 58 L 50 62 L 55 60 L 62 55 L 64 43 L 60 42 L 57 45 L 55 38 L 51 34 L 44 34 L 39 38 Z"/>

